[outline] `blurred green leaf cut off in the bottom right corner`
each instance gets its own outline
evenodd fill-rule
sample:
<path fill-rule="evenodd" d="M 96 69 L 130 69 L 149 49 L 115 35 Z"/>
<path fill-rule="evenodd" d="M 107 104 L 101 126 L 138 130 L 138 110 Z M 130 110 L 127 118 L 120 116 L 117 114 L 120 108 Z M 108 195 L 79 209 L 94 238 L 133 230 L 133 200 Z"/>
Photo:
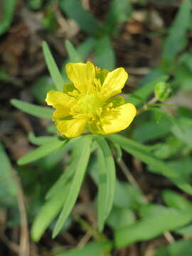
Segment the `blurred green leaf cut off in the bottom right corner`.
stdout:
<path fill-rule="evenodd" d="M 192 238 L 183 239 L 166 245 L 157 250 L 154 256 L 191 256 L 192 255 Z"/>

